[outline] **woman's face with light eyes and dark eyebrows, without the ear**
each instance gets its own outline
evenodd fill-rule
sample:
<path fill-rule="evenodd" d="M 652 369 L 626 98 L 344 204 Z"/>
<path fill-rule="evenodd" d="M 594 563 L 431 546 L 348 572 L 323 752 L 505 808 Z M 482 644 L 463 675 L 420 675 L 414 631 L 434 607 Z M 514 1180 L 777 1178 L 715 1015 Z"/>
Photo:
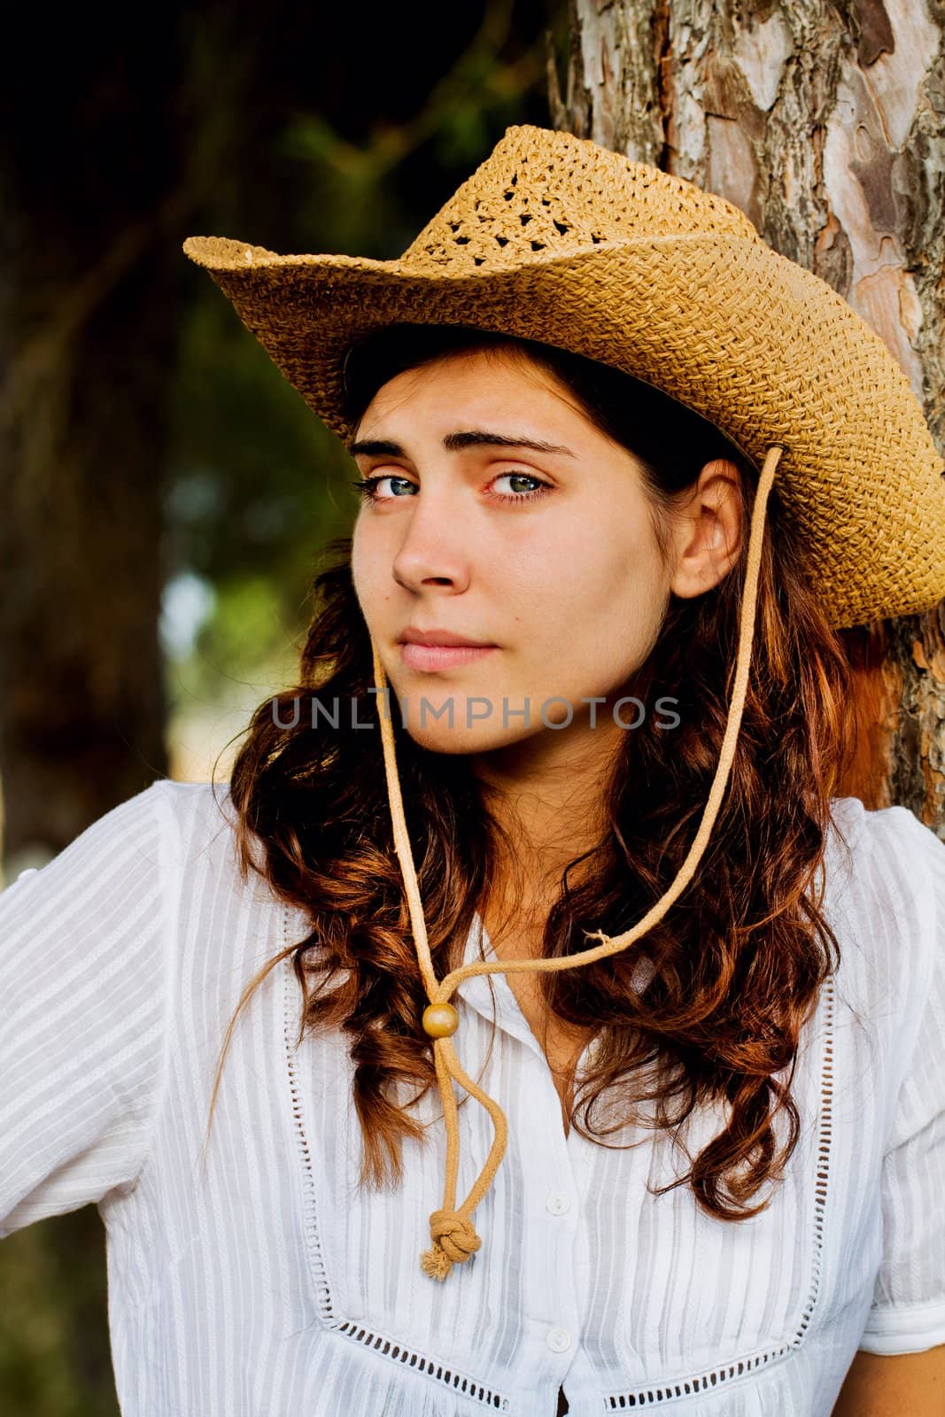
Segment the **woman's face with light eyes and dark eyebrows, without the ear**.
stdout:
<path fill-rule="evenodd" d="M 351 451 L 375 479 L 354 527 L 354 587 L 411 737 L 483 752 L 619 733 L 613 701 L 672 587 L 636 459 L 553 376 L 496 351 L 392 378 Z M 402 643 L 411 628 L 490 648 L 424 652 Z M 640 713 L 618 711 L 628 727 Z"/>

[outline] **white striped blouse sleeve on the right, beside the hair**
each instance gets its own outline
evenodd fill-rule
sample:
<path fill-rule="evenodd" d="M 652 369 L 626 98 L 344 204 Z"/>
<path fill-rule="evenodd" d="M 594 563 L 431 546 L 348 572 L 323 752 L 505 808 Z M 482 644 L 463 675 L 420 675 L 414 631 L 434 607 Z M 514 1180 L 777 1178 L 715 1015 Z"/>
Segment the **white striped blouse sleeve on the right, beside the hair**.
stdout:
<path fill-rule="evenodd" d="M 902 966 L 915 971 L 914 1007 L 901 1030 L 905 1076 L 883 1159 L 883 1260 L 860 1340 L 884 1355 L 945 1343 L 945 843 L 905 808 L 893 813 L 927 928 L 924 958 L 902 951 Z"/>

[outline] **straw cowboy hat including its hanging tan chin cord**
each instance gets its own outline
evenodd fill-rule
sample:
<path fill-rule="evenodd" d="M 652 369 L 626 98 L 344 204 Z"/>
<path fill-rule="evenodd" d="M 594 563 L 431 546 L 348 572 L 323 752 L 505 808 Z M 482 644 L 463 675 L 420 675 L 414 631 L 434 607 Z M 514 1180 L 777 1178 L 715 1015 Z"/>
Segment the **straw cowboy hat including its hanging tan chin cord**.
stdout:
<path fill-rule="evenodd" d="M 247 327 L 344 441 L 344 357 L 392 323 L 470 324 L 554 344 L 653 384 L 713 422 L 759 469 L 735 680 L 718 769 L 689 856 L 630 931 L 577 956 L 466 965 L 438 981 L 397 778 L 380 714 L 394 840 L 429 1007 L 448 1159 L 425 1271 L 445 1278 L 480 1240 L 472 1213 L 506 1146 L 506 1118 L 463 1071 L 449 998 L 473 973 L 579 968 L 639 939 L 684 890 L 708 840 L 745 699 L 764 516 L 775 470 L 802 531 L 805 568 L 837 626 L 931 609 L 945 597 L 945 469 L 908 380 L 883 340 L 822 279 L 768 247 L 730 203 L 587 139 L 531 125 L 494 150 L 402 256 L 278 255 L 188 237 Z M 375 684 L 387 679 L 374 648 Z M 378 696 L 378 707 L 383 696 Z M 456 1206 L 452 1083 L 492 1115 L 494 1142 Z"/>

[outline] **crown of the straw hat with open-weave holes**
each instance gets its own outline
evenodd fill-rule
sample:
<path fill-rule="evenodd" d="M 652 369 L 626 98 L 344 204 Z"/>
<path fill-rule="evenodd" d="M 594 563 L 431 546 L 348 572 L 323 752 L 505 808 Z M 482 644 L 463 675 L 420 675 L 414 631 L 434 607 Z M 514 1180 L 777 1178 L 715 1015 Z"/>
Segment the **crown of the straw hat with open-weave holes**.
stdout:
<path fill-rule="evenodd" d="M 759 241 L 738 207 L 589 139 L 523 123 L 401 256 L 418 273 L 520 266 L 608 242 L 696 232 Z"/>

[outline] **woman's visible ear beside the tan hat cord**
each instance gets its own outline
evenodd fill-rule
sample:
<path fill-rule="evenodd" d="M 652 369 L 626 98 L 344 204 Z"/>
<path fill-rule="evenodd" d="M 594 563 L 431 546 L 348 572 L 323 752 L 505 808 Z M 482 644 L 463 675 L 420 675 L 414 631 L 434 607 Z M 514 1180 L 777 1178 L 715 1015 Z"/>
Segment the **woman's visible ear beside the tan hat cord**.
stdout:
<path fill-rule="evenodd" d="M 741 478 L 734 462 L 707 462 L 674 516 L 676 568 L 670 589 L 683 598 L 710 591 L 741 550 Z"/>

